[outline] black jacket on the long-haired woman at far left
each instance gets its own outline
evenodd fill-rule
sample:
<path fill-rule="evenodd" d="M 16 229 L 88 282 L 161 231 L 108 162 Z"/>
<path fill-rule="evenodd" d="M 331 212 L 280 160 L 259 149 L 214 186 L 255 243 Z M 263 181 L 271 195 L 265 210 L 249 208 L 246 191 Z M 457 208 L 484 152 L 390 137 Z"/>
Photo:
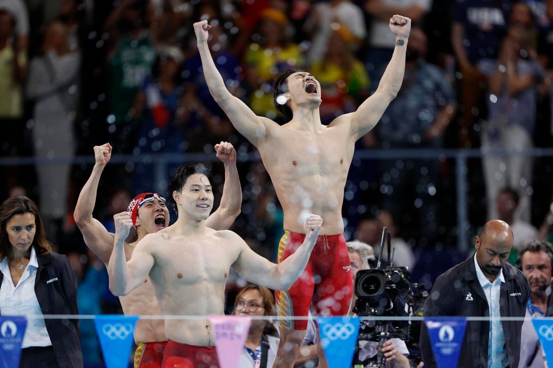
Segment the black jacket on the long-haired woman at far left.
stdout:
<path fill-rule="evenodd" d="M 44 255 L 35 247 L 35 295 L 46 314 L 79 314 L 77 307 L 77 276 L 65 255 L 49 252 Z M 0 285 L 4 275 L 0 273 Z M 44 318 L 46 330 L 60 368 L 83 366 L 79 342 L 79 319 Z"/>

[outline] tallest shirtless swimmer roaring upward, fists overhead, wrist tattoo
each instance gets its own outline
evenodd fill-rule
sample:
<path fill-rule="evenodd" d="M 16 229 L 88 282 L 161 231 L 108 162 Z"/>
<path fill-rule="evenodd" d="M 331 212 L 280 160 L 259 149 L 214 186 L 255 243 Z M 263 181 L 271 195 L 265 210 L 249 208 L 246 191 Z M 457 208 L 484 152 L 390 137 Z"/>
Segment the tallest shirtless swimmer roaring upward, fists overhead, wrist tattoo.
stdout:
<path fill-rule="evenodd" d="M 234 127 L 258 148 L 283 207 L 285 233 L 280 241 L 279 262 L 301 243 L 304 214 L 314 212 L 325 220 L 306 274 L 288 292 L 276 292 L 280 316 L 307 316 L 311 301 L 316 314 L 345 315 L 349 311 L 353 284 L 342 234 L 344 187 L 355 142 L 373 129 L 399 92 L 411 20 L 394 15 L 389 25 L 396 46 L 378 89 L 357 111 L 338 116 L 325 126 L 319 114 L 321 86 L 302 71 L 287 71 L 274 82 L 275 106 L 291 119 L 288 123 L 278 125 L 255 115 L 227 90 L 217 71 L 207 46 L 211 26 L 206 20 L 194 24 L 207 86 Z M 275 367 L 293 366 L 306 326 L 306 320 L 281 320 Z M 288 346 L 286 351 L 284 345 Z M 322 356 L 322 351 L 319 353 Z M 321 360 L 320 366 L 326 366 L 326 362 Z"/>

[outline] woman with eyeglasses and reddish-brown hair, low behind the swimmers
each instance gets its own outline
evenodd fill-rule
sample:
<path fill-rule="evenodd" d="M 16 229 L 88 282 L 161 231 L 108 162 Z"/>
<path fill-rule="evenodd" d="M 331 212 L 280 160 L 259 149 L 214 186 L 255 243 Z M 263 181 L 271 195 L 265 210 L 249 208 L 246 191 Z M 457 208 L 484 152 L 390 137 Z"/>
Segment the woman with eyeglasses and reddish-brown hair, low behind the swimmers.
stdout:
<path fill-rule="evenodd" d="M 267 287 L 248 285 L 236 296 L 236 316 L 274 316 L 274 297 Z M 240 368 L 270 368 L 276 358 L 279 340 L 274 324 L 266 319 L 252 318 L 248 338 L 240 355 Z"/>

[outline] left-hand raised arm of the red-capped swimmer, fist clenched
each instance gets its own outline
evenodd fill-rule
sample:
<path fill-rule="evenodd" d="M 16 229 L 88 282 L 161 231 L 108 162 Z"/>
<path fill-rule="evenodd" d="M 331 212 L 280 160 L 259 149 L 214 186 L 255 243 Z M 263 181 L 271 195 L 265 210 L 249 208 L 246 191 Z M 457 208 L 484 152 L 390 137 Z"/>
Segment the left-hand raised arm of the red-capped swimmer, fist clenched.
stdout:
<path fill-rule="evenodd" d="M 90 174 L 85 186 L 82 187 L 73 212 L 75 223 L 79 226 L 86 245 L 106 264 L 109 262 L 109 256 L 113 249 L 113 235 L 106 230 L 100 221 L 92 217 L 92 212 L 96 202 L 98 183 L 103 169 L 111 158 L 111 150 L 112 147 L 109 143 L 94 146 L 95 164 L 92 168 L 92 174 Z"/>

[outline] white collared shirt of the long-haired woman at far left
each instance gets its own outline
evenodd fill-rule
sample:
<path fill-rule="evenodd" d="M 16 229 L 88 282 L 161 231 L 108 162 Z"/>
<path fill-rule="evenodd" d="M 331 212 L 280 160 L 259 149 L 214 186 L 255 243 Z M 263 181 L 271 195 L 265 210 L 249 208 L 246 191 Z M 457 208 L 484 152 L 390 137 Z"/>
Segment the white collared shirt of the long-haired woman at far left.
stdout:
<path fill-rule="evenodd" d="M 12 274 L 9 271 L 8 257 L 0 262 L 0 271 L 4 274 L 0 286 L 0 313 L 2 316 L 41 315 L 42 311 L 34 292 L 38 261 L 34 247 L 31 247 L 31 258 L 23 271 L 17 286 L 13 285 Z M 50 346 L 50 336 L 46 330 L 44 318 L 28 318 L 27 329 L 23 337 L 22 348 L 29 346 Z"/>

